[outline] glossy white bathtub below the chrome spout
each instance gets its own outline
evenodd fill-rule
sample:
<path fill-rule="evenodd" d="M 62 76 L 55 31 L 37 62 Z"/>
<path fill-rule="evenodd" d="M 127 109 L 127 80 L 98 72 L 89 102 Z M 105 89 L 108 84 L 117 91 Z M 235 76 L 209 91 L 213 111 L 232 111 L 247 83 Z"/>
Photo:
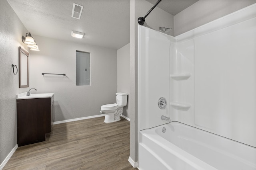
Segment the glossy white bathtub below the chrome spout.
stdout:
<path fill-rule="evenodd" d="M 179 122 L 140 131 L 138 147 L 140 170 L 256 170 L 256 148 Z"/>

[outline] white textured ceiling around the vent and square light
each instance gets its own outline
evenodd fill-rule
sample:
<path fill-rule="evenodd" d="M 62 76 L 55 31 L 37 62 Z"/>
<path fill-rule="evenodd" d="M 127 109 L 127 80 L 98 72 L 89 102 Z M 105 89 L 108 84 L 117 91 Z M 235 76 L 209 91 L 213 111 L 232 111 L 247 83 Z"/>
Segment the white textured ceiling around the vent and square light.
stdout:
<path fill-rule="evenodd" d="M 119 49 L 130 42 L 130 0 L 7 0 L 32 35 Z M 157 0 L 147 0 L 155 4 Z M 162 0 L 158 7 L 172 15 L 198 0 Z M 73 3 L 84 6 L 72 18 Z M 150 9 L 148 9 L 150 10 Z M 85 37 L 71 37 L 71 30 Z M 40 43 L 37 42 L 40 46 Z"/>

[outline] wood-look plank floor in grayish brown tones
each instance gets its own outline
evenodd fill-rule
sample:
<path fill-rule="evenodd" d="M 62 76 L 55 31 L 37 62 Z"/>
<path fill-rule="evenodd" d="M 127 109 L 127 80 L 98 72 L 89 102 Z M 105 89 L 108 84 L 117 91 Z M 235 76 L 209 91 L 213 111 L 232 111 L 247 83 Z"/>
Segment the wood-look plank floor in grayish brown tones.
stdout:
<path fill-rule="evenodd" d="M 18 147 L 3 170 L 137 170 L 129 155 L 130 122 L 98 117 L 54 125 L 46 141 Z"/>

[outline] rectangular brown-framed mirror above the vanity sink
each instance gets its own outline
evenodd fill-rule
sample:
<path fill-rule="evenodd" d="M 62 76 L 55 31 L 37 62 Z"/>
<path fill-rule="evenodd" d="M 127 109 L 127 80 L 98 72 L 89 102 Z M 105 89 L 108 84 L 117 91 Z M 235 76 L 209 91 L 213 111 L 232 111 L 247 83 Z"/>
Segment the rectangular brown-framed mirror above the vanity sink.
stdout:
<path fill-rule="evenodd" d="M 28 55 L 24 49 L 19 47 L 19 86 L 20 88 L 29 87 L 28 84 Z"/>

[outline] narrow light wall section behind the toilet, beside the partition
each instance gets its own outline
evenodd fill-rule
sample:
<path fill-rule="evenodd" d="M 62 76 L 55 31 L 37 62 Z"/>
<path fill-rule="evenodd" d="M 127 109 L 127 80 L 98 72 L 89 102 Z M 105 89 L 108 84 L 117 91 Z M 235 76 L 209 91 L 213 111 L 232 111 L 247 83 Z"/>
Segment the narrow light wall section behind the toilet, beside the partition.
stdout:
<path fill-rule="evenodd" d="M 130 118 L 130 43 L 117 50 L 117 92 L 128 94 L 123 115 Z"/>

